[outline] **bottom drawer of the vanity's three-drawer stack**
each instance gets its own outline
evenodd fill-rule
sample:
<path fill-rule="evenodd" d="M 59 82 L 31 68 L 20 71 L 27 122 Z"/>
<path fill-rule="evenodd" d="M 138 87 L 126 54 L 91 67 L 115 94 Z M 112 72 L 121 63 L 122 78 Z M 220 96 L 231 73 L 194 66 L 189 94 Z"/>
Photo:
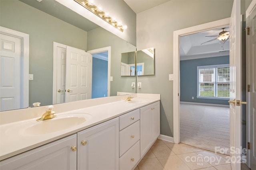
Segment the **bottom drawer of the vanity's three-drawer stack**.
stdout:
<path fill-rule="evenodd" d="M 140 160 L 140 141 L 133 145 L 120 159 L 120 170 L 131 170 Z"/>

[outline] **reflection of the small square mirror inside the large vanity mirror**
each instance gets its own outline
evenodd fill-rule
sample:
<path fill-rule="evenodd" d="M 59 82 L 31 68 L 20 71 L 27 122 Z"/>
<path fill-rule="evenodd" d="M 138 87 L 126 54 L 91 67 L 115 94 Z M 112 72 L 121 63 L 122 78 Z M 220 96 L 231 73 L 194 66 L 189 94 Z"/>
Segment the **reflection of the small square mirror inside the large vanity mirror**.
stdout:
<path fill-rule="evenodd" d="M 135 76 L 136 51 L 121 54 L 121 76 Z"/>

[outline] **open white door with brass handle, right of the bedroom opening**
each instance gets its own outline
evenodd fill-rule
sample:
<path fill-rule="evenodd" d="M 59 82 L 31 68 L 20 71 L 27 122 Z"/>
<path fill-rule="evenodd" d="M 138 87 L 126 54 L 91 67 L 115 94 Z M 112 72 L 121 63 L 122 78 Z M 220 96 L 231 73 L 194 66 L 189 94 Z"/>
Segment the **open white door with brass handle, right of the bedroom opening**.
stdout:
<path fill-rule="evenodd" d="M 230 17 L 230 147 L 241 147 L 241 18 L 240 0 L 234 0 Z M 230 151 L 232 170 L 240 170 L 241 153 Z"/>

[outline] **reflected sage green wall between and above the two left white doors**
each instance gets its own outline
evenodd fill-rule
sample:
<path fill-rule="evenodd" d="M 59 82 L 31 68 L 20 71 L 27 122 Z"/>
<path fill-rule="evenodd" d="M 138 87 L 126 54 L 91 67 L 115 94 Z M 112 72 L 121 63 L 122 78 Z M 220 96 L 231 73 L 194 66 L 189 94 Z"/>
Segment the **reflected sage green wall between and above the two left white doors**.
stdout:
<path fill-rule="evenodd" d="M 0 0 L 0 25 L 29 34 L 29 106 L 52 104 L 53 41 L 87 51 L 87 32 L 18 0 Z"/>

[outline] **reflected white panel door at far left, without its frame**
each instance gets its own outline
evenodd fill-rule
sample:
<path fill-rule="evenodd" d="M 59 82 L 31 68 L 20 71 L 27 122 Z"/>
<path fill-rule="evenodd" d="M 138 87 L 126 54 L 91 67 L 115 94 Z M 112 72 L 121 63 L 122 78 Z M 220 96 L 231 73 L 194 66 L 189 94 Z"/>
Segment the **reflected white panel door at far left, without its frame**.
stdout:
<path fill-rule="evenodd" d="M 0 111 L 21 108 L 21 39 L 0 34 Z"/>

